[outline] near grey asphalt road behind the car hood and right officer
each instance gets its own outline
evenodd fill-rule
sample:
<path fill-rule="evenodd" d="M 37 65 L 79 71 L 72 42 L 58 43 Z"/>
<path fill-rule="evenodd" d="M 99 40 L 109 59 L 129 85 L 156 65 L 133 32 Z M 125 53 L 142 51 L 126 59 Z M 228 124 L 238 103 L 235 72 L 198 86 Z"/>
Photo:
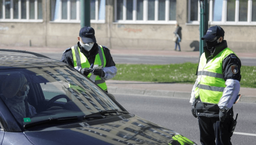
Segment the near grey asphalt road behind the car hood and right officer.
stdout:
<path fill-rule="evenodd" d="M 113 94 L 129 113 L 136 114 L 153 123 L 178 132 L 198 145 L 199 128 L 197 118 L 191 114 L 189 99 Z M 238 113 L 237 125 L 231 138 L 233 145 L 255 144 L 256 115 L 255 103 L 239 102 L 234 105 L 234 113 Z"/>

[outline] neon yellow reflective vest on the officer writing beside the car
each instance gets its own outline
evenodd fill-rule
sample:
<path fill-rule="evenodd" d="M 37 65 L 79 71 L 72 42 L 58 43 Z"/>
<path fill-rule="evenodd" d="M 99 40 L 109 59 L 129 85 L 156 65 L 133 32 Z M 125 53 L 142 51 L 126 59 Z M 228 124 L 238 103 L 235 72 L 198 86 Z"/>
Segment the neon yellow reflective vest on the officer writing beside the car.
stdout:
<path fill-rule="evenodd" d="M 106 66 L 106 58 L 105 58 L 103 48 L 101 45 L 98 45 L 98 49 L 99 49 L 99 53 L 95 56 L 94 65 L 98 64 L 99 66 L 105 67 Z M 71 47 L 71 50 L 72 50 L 72 55 L 73 55 L 74 67 L 76 67 L 76 66 L 80 66 L 81 68 L 86 68 L 86 67 L 89 68 L 90 67 L 89 61 L 83 55 L 83 53 L 80 52 L 80 48 L 77 45 Z M 92 73 L 89 73 L 89 75 L 87 77 L 90 78 L 91 75 L 92 75 Z M 107 90 L 106 82 L 105 82 L 105 80 L 102 80 L 100 76 L 96 76 L 95 84 L 100 86 L 103 90 L 105 90 L 105 91 Z"/>

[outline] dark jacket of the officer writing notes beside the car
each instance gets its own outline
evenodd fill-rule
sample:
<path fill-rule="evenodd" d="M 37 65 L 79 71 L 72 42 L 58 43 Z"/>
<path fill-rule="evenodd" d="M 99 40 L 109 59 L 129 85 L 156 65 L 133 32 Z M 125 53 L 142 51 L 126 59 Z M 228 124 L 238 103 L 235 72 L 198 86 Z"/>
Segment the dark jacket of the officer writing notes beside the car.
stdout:
<path fill-rule="evenodd" d="M 77 42 L 77 46 L 81 48 L 81 45 L 79 42 Z M 115 62 L 113 61 L 110 50 L 106 46 L 102 46 L 105 58 L 106 58 L 106 66 L 103 69 L 105 72 L 105 76 L 101 77 L 103 80 L 109 80 L 113 78 L 116 75 L 117 69 L 115 67 Z M 87 58 L 90 64 L 94 63 L 95 56 L 99 53 L 98 44 L 94 43 L 92 49 L 88 52 L 84 49 L 80 49 L 80 52 L 84 54 L 84 56 Z M 71 48 L 67 48 L 62 55 L 61 61 L 71 65 L 74 67 L 74 61 L 73 61 L 73 55 Z M 75 69 L 80 71 L 80 67 L 75 67 Z"/>

